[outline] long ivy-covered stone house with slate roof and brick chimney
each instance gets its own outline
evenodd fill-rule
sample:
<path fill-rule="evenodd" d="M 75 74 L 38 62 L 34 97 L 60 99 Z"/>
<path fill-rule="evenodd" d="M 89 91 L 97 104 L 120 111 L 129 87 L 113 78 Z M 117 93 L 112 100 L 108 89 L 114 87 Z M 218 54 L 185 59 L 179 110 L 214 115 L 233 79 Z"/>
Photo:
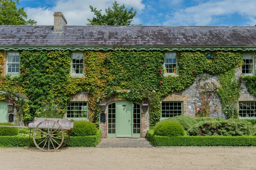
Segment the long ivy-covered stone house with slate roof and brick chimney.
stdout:
<path fill-rule="evenodd" d="M 0 122 L 90 120 L 102 137 L 145 137 L 176 115 L 255 118 L 254 26 L 0 26 Z"/>

